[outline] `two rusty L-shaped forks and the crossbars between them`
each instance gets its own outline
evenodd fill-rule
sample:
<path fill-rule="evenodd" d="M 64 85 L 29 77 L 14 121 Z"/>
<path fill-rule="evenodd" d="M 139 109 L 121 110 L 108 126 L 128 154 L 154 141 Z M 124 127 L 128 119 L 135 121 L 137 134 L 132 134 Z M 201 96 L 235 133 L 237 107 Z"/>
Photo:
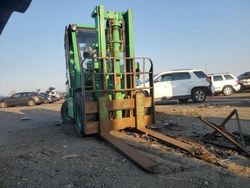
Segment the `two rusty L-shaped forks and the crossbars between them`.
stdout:
<path fill-rule="evenodd" d="M 148 98 L 148 99 L 147 99 Z M 195 156 L 200 159 L 204 159 L 208 162 L 218 164 L 219 162 L 215 159 L 215 156 L 210 153 L 205 148 L 200 146 L 186 143 L 177 139 L 174 139 L 170 136 L 163 135 L 152 131 L 146 128 L 146 125 L 153 123 L 152 115 L 145 115 L 145 107 L 152 107 L 150 106 L 150 97 L 145 97 L 143 93 L 136 93 L 135 98 L 131 99 L 134 101 L 135 105 L 125 105 L 127 108 L 134 107 L 135 108 L 135 117 L 124 117 L 121 119 L 110 119 L 109 113 L 110 111 L 124 109 L 119 107 L 123 103 L 118 100 L 110 101 L 108 97 L 99 97 L 98 104 L 99 104 L 99 135 L 100 137 L 110 143 L 113 147 L 115 147 L 118 151 L 126 155 L 131 161 L 136 163 L 142 169 L 148 172 L 156 172 L 157 163 L 153 160 L 149 159 L 145 155 L 138 152 L 136 149 L 128 146 L 127 144 L 123 143 L 116 137 L 114 137 L 111 132 L 113 130 L 120 130 L 127 127 L 135 127 L 141 133 L 148 134 L 159 141 L 171 145 L 177 148 L 180 148 L 192 156 Z M 128 101 L 131 101 L 128 100 Z M 151 103 L 152 104 L 152 103 Z"/>

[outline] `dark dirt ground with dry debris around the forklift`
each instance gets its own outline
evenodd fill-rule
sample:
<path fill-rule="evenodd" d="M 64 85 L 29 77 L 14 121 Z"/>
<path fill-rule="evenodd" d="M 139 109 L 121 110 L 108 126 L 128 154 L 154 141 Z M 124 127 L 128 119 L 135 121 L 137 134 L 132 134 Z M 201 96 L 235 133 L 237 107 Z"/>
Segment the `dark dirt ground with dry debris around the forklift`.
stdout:
<path fill-rule="evenodd" d="M 249 158 L 207 143 L 206 135 L 213 130 L 198 118 L 219 124 L 236 108 L 250 151 L 249 103 L 156 105 L 157 124 L 151 128 L 203 144 L 226 166 L 197 159 L 147 135 L 117 132 L 117 137 L 159 163 L 158 174 L 144 172 L 95 136 L 77 137 L 72 125 L 61 123 L 60 107 L 61 102 L 0 109 L 0 188 L 250 186 Z M 236 120 L 226 128 L 237 131 Z M 218 143 L 228 145 L 221 137 Z"/>

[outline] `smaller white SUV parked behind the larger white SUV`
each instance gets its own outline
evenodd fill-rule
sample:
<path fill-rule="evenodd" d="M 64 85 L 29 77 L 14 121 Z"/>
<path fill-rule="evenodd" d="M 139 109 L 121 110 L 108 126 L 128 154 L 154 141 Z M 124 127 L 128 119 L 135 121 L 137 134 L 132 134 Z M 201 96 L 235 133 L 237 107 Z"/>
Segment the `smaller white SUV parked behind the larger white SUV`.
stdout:
<path fill-rule="evenodd" d="M 228 96 L 240 90 L 238 79 L 231 73 L 210 74 L 208 77 L 213 94 L 223 93 Z"/>

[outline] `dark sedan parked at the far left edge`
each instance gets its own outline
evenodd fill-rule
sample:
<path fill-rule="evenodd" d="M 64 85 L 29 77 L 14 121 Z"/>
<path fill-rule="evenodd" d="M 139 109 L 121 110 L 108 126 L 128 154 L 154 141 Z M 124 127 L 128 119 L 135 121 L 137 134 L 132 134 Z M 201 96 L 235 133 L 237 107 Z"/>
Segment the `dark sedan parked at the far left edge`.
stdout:
<path fill-rule="evenodd" d="M 20 105 L 34 106 L 43 102 L 43 99 L 35 92 L 20 92 L 10 97 L 1 99 L 0 108 Z"/>

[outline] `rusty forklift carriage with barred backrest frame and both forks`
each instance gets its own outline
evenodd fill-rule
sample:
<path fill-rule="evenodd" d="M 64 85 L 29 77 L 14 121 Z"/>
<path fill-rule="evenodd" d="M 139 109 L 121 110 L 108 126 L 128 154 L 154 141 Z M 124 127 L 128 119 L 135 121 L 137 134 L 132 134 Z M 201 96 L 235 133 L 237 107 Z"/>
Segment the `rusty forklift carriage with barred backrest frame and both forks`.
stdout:
<path fill-rule="evenodd" d="M 83 116 L 89 117 L 85 118 L 84 120 L 84 133 L 86 135 L 98 133 L 103 140 L 110 143 L 118 151 L 126 155 L 131 161 L 148 172 L 156 172 L 155 167 L 157 166 L 157 163 L 113 136 L 112 132 L 114 130 L 135 128 L 137 131 L 148 134 L 159 141 L 164 142 L 165 144 L 178 147 L 195 156 L 196 158 L 201 158 L 208 162 L 216 163 L 217 161 L 214 161 L 214 155 L 203 147 L 186 143 L 146 128 L 146 126 L 152 125 L 155 122 L 153 64 L 152 61 L 148 59 L 150 69 L 145 70 L 145 58 L 141 59 L 143 60 L 143 70 L 136 71 L 135 63 L 137 62 L 138 58 L 124 58 L 124 67 L 120 67 L 122 71 L 119 75 L 125 78 L 124 89 L 116 89 L 115 87 L 107 86 L 105 81 L 107 76 L 110 76 L 113 79 L 114 85 L 118 82 L 116 80 L 118 76 L 116 75 L 116 72 L 84 73 L 82 76 L 82 83 L 85 83 L 85 76 L 92 77 L 92 83 L 90 83 L 88 86 L 82 87 L 87 88 L 83 90 Z M 115 70 L 114 66 L 116 65 L 114 63 L 114 58 L 95 58 L 94 61 L 95 60 L 100 61 L 104 65 L 107 61 L 109 61 L 111 70 Z M 127 66 L 130 66 L 130 68 L 127 69 Z M 136 77 L 139 75 L 142 75 L 143 83 L 145 83 L 147 75 L 149 78 L 149 86 L 146 87 L 145 84 L 141 88 L 137 88 L 135 86 Z M 97 88 L 95 87 L 95 81 L 100 77 L 103 78 L 103 83 Z M 143 90 L 147 90 L 149 92 L 148 95 L 145 95 Z M 122 100 L 114 99 L 112 96 L 114 96 L 116 92 L 123 92 L 124 98 Z M 100 97 L 98 93 L 101 93 L 102 97 Z M 87 98 L 85 98 L 85 96 L 95 96 L 96 94 L 98 96 L 98 101 L 88 101 Z M 122 117 L 116 118 L 114 114 L 119 110 L 122 111 Z"/>

